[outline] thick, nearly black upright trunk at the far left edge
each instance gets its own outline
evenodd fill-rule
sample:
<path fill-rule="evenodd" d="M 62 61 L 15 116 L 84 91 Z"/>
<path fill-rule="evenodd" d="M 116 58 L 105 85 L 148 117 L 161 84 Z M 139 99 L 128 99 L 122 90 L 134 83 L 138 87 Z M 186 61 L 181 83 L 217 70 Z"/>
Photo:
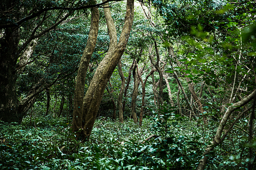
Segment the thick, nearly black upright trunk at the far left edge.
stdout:
<path fill-rule="evenodd" d="M 2 11 L 8 11 L 16 3 L 14 0 L 1 1 Z M 15 16 L 19 18 L 18 14 Z M 0 39 L 0 120 L 18 122 L 18 99 L 16 95 L 16 64 L 19 43 L 18 28 L 1 30 L 5 37 Z"/>

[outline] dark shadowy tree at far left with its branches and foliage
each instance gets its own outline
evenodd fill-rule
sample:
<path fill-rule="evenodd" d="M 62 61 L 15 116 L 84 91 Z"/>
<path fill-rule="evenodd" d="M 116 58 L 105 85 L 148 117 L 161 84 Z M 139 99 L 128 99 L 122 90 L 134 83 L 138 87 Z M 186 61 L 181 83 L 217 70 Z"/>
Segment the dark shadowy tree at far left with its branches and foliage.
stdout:
<path fill-rule="evenodd" d="M 111 0 L 112 1 L 112 0 Z M 4 122 L 21 122 L 23 116 L 36 100 L 41 91 L 52 86 L 55 82 L 67 77 L 70 71 L 62 72 L 51 83 L 44 79 L 38 81 L 23 101 L 18 101 L 16 94 L 17 73 L 22 63 L 19 58 L 28 58 L 29 44 L 35 39 L 56 29 L 74 11 L 91 7 L 102 7 L 105 3 L 84 3 L 82 1 L 1 1 L 0 2 L 0 119 Z M 54 15 L 52 15 L 54 13 Z M 8 57 L 7 57 L 8 56 Z M 24 57 L 27 56 L 27 57 Z M 27 63 L 29 64 L 29 63 Z M 21 69 L 20 69 L 21 70 Z M 75 70 L 73 70 L 75 71 Z"/>

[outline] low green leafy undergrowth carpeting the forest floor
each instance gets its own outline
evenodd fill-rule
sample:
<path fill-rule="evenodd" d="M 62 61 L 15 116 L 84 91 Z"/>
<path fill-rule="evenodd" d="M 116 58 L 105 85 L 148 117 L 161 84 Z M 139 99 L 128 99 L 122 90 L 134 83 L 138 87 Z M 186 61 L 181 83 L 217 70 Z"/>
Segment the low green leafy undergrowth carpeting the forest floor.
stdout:
<path fill-rule="evenodd" d="M 3 123 L 0 169 L 196 169 L 216 128 L 166 109 L 161 114 L 144 118 L 142 126 L 131 119 L 122 124 L 99 117 L 84 143 L 75 140 L 66 118 L 38 116 L 26 117 L 22 125 Z M 210 159 L 207 168 L 220 169 L 225 165 L 221 161 L 228 159 L 218 158 Z M 237 166 L 229 162 L 227 169 Z"/>

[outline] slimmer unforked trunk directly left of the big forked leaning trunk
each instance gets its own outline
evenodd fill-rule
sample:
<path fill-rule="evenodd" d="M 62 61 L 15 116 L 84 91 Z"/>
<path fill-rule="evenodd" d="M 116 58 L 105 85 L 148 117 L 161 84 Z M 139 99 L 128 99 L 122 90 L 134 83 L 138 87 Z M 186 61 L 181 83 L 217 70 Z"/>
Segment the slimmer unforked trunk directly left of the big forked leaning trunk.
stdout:
<path fill-rule="evenodd" d="M 75 86 L 75 96 L 74 96 L 74 113 L 73 113 L 73 124 L 72 128 L 74 132 L 82 129 L 82 104 L 84 95 L 84 84 L 86 81 L 86 72 L 89 66 L 90 59 L 92 57 L 94 48 L 96 46 L 98 31 L 99 31 L 99 10 L 98 8 L 91 8 L 91 27 L 88 35 L 88 40 L 86 48 L 83 51 L 81 61 L 79 64 L 76 86 Z M 80 135 L 79 132 L 77 134 Z"/>

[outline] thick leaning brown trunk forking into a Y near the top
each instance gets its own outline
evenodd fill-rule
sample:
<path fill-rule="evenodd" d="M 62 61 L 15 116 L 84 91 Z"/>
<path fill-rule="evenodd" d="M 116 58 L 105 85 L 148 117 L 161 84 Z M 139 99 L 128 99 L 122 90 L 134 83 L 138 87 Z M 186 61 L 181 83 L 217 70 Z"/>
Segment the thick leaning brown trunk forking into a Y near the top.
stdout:
<path fill-rule="evenodd" d="M 117 41 L 115 40 L 117 34 L 114 21 L 108 7 L 104 8 L 104 14 L 110 35 L 110 48 L 106 56 L 99 63 L 86 95 L 83 98 L 82 117 L 80 119 L 76 117 L 75 119 L 76 122 L 82 122 L 80 132 L 83 141 L 88 139 L 91 135 L 106 84 L 117 66 L 129 40 L 134 18 L 134 0 L 127 1 L 124 26 L 118 44 L 116 44 Z M 79 129 L 75 130 L 78 131 Z"/>

